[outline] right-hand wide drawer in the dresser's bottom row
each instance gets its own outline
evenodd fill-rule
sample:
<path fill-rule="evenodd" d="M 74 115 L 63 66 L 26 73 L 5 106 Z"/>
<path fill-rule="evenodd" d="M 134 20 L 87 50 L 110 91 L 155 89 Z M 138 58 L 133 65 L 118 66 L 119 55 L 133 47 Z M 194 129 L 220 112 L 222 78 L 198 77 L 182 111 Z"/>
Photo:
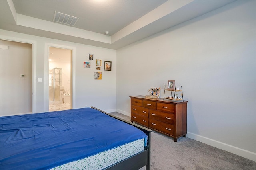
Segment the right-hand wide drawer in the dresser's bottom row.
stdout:
<path fill-rule="evenodd" d="M 154 119 L 149 120 L 149 127 L 156 129 L 158 131 L 167 133 L 169 135 L 174 135 L 174 125 L 163 123 Z"/>

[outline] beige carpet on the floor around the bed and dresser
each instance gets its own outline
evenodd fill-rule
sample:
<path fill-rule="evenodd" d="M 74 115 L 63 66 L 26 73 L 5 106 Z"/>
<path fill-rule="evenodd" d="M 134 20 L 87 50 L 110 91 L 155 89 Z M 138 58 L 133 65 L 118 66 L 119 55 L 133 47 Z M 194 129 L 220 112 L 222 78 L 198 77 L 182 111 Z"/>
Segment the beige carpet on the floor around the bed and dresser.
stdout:
<path fill-rule="evenodd" d="M 125 120 L 130 117 L 111 113 Z M 141 168 L 140 170 L 145 170 Z M 151 133 L 151 170 L 256 170 L 256 162 L 190 138 Z"/>

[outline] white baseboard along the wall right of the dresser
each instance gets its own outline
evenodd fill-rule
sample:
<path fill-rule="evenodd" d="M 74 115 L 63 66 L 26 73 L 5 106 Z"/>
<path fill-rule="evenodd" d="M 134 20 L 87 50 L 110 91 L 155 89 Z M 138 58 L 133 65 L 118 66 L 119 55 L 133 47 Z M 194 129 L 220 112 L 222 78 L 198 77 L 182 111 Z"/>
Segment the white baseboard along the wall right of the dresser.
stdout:
<path fill-rule="evenodd" d="M 210 145 L 210 146 L 222 149 L 222 150 L 226 150 L 230 153 L 242 156 L 244 158 L 247 158 L 247 159 L 250 159 L 250 160 L 253 160 L 253 161 L 256 162 L 256 153 L 254 153 L 254 152 L 250 152 L 248 150 L 244 150 L 244 149 L 241 149 L 241 148 L 238 148 L 238 147 L 234 147 L 232 145 L 228 145 L 228 144 L 222 143 L 220 141 L 215 141 L 213 139 L 203 137 L 203 136 L 200 136 L 200 135 L 196 135 L 196 134 L 190 133 L 190 132 L 187 133 L 187 137 L 189 137 L 191 139 L 194 139 L 196 141 L 205 143 L 207 145 Z"/>

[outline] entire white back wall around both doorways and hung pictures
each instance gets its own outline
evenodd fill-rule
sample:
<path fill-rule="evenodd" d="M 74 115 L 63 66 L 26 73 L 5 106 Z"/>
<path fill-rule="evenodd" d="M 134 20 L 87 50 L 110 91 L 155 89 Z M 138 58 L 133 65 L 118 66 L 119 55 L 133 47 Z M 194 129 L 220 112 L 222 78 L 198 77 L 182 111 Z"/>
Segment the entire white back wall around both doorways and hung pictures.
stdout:
<path fill-rule="evenodd" d="M 45 49 L 47 45 L 54 44 L 60 47 L 74 47 L 73 72 L 74 72 L 74 101 L 73 108 L 95 106 L 107 112 L 116 111 L 116 50 L 59 41 L 33 35 L 26 35 L 6 30 L 0 30 L 0 39 L 34 42 L 33 65 L 35 76 L 33 77 L 35 92 L 34 113 L 48 111 L 47 86 L 45 75 L 47 74 L 48 57 Z M 94 61 L 91 62 L 91 68 L 84 68 L 83 62 L 88 61 L 88 53 L 94 54 Z M 96 71 L 96 59 L 112 61 L 112 71 L 104 71 L 101 66 L 102 80 L 94 80 L 94 71 Z M 43 82 L 37 82 L 37 78 L 43 78 Z"/>

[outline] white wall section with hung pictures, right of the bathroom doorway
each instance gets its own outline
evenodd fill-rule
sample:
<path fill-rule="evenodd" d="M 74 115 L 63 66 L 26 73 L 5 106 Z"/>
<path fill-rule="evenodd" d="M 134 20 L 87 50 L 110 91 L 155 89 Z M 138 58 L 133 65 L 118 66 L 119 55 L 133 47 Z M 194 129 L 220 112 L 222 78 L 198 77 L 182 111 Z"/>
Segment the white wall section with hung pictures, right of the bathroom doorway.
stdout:
<path fill-rule="evenodd" d="M 78 44 L 76 53 L 76 107 L 116 111 L 116 50 Z M 84 68 L 88 53 L 94 54 L 94 61 L 90 61 L 91 68 Z M 94 80 L 96 59 L 102 60 L 102 80 Z M 112 61 L 112 71 L 104 71 L 104 60 Z"/>

